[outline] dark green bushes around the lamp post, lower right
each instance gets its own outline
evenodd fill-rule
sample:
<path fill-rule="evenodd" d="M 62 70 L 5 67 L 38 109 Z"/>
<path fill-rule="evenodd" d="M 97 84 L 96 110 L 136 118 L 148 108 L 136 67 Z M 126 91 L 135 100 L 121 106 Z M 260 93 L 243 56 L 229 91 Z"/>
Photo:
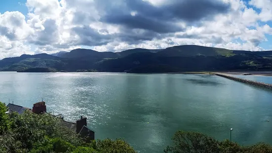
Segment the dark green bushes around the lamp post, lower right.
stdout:
<path fill-rule="evenodd" d="M 198 132 L 177 131 L 172 140 L 173 146 L 167 146 L 164 153 L 272 153 L 272 146 L 265 143 L 240 146 L 228 139 L 217 141 Z"/>

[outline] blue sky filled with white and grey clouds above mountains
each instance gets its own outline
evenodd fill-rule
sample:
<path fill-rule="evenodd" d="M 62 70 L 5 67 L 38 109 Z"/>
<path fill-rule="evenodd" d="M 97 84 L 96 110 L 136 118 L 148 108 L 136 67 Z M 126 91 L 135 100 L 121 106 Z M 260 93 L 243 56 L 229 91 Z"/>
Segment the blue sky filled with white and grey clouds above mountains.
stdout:
<path fill-rule="evenodd" d="M 195 44 L 272 50 L 272 0 L 0 0 L 0 59 Z"/>

